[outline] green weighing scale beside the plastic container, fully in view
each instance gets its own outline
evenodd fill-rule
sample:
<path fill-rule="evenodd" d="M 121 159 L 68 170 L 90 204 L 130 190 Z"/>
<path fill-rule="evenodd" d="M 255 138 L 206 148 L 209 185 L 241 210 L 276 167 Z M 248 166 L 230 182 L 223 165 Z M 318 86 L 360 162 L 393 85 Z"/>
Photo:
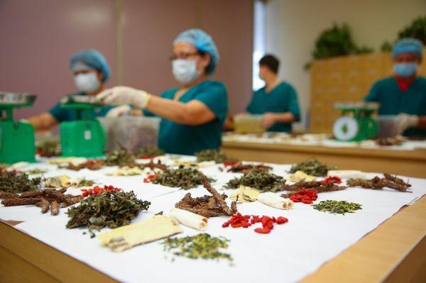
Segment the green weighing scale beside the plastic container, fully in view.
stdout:
<path fill-rule="evenodd" d="M 60 123 L 62 156 L 103 156 L 105 133 L 101 123 L 92 118 L 92 111 L 104 106 L 94 96 L 82 95 L 67 96 L 60 101 L 60 106 L 77 111 L 76 121 Z"/>

